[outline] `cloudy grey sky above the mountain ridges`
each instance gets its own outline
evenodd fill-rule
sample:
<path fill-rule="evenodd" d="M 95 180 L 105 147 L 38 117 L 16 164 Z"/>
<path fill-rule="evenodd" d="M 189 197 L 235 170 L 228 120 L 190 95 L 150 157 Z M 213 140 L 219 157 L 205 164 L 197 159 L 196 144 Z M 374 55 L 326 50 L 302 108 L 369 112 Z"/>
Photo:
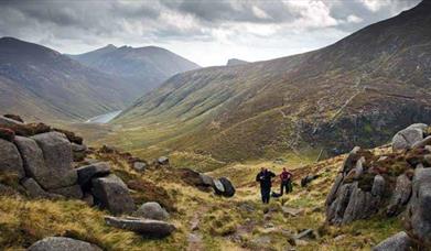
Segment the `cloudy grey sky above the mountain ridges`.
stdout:
<path fill-rule="evenodd" d="M 202 66 L 330 45 L 420 0 L 0 0 L 0 36 L 79 54 L 168 48 Z"/>

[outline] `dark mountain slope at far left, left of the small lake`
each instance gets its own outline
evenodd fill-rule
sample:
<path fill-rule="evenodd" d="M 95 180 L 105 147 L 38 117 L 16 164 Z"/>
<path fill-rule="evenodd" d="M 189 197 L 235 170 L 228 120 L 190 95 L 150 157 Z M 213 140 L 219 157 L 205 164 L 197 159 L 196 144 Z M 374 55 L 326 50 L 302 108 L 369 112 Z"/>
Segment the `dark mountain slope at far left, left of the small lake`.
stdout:
<path fill-rule="evenodd" d="M 131 85 L 51 48 L 0 39 L 0 113 L 84 120 L 119 110 L 136 96 Z"/>

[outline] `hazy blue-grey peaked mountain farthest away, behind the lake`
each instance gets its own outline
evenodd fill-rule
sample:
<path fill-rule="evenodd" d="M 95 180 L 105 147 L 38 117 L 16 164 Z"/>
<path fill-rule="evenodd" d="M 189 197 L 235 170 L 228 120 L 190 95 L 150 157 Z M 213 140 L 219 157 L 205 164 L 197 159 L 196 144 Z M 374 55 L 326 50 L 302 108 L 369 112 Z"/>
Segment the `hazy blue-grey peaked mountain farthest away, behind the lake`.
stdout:
<path fill-rule="evenodd" d="M 83 65 L 131 83 L 141 94 L 158 87 L 177 73 L 200 68 L 195 63 L 155 46 L 134 48 L 107 45 L 93 52 L 69 56 Z"/>

